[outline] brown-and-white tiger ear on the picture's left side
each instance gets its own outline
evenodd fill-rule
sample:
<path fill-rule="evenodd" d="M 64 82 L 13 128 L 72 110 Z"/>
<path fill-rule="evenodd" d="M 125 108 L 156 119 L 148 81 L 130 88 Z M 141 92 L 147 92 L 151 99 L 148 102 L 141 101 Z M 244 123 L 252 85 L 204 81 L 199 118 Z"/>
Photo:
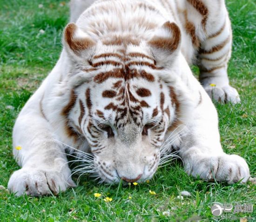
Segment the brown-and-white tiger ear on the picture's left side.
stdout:
<path fill-rule="evenodd" d="M 69 23 L 66 26 L 63 42 L 64 46 L 67 48 L 67 51 L 74 52 L 78 56 L 96 44 L 87 33 L 83 32 L 74 23 Z"/>

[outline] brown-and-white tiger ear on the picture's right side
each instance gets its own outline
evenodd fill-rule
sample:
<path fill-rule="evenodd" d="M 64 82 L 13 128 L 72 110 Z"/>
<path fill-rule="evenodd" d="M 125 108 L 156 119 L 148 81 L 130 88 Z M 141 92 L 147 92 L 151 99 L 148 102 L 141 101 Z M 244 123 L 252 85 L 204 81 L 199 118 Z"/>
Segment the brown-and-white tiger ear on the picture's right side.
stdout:
<path fill-rule="evenodd" d="M 155 36 L 148 41 L 158 65 L 166 65 L 179 52 L 181 45 L 181 31 L 174 23 L 165 22 L 155 32 Z"/>

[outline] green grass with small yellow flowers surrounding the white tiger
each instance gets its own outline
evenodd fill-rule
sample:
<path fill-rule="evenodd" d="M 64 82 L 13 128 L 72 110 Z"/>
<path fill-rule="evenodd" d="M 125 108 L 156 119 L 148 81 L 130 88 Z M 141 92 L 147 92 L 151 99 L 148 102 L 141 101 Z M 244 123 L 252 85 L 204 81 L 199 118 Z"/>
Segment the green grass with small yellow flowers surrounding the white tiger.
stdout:
<path fill-rule="evenodd" d="M 0 0 L 0 184 L 5 187 L 11 173 L 19 169 L 12 157 L 15 118 L 61 52 L 68 7 L 67 1 L 63 7 L 60 2 Z M 39 4 L 44 7 L 39 8 Z M 239 154 L 247 160 L 255 176 L 256 5 L 253 0 L 227 0 L 227 6 L 234 34 L 229 76 L 242 104 L 216 104 L 221 140 L 227 153 Z M 40 34 L 41 29 L 45 33 Z M 150 195 L 149 190 L 156 195 Z M 179 200 L 177 196 L 182 190 L 192 196 Z M 103 197 L 95 198 L 95 192 Z M 113 201 L 104 202 L 105 196 Z M 159 169 L 149 183 L 137 186 L 97 185 L 84 177 L 78 187 L 57 197 L 17 198 L 0 191 L 0 221 L 213 221 L 213 202 L 256 203 L 256 187 L 252 183 L 206 183 L 187 176 L 182 164 L 173 162 Z M 168 209 L 170 215 L 163 215 Z M 256 218 L 256 210 L 236 216 Z"/>

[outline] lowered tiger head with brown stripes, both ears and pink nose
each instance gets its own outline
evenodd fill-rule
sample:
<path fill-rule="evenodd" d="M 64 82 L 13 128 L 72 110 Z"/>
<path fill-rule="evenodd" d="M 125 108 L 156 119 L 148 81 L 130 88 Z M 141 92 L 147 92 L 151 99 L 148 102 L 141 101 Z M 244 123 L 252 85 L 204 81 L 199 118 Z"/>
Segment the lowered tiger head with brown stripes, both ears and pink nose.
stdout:
<path fill-rule="evenodd" d="M 62 114 L 70 135 L 88 141 L 105 182 L 151 178 L 167 132 L 181 124 L 186 96 L 176 78 L 180 40 L 178 26 L 170 22 L 148 40 L 131 35 L 96 40 L 74 23 L 67 25 L 71 98 Z"/>

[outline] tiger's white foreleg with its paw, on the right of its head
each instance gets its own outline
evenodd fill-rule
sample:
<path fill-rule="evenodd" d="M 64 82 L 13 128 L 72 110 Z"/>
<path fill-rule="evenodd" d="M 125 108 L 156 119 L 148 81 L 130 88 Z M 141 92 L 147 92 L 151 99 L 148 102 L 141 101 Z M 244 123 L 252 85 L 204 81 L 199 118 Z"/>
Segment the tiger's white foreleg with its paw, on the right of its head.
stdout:
<path fill-rule="evenodd" d="M 242 157 L 223 152 L 216 109 L 202 88 L 200 93 L 202 97 L 180 148 L 185 171 L 208 181 L 245 183 L 250 176 L 248 165 Z"/>

